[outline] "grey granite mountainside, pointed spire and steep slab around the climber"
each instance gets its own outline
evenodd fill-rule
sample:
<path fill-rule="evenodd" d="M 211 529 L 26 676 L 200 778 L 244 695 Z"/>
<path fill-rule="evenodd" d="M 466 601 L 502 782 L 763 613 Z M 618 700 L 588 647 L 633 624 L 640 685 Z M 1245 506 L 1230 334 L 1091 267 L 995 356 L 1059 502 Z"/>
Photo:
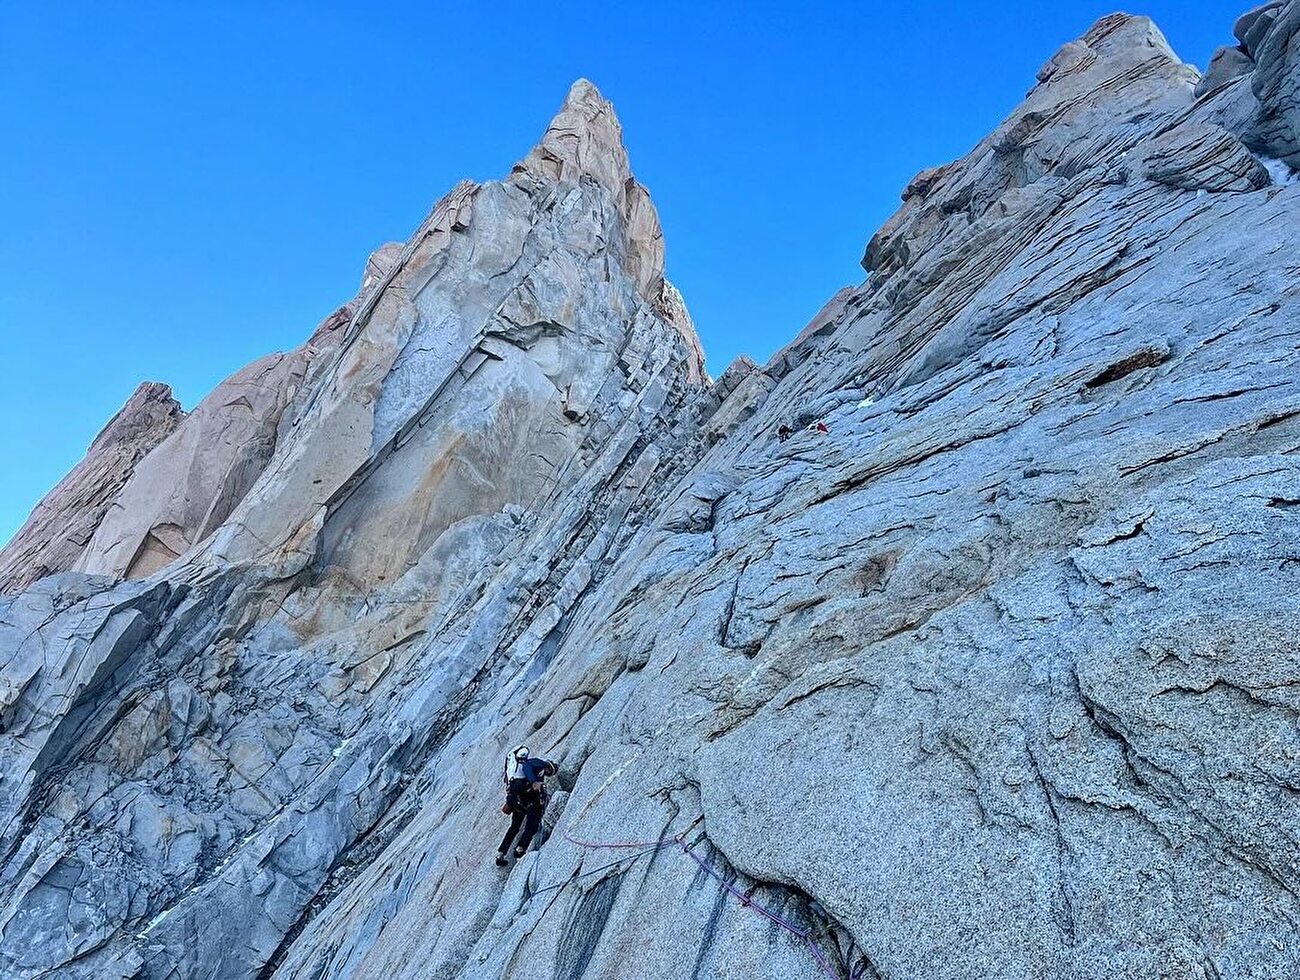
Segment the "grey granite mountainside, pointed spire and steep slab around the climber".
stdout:
<path fill-rule="evenodd" d="M 0 600 L 0 972 L 1300 972 L 1297 9 L 1104 18 L 711 385 L 576 84 Z"/>

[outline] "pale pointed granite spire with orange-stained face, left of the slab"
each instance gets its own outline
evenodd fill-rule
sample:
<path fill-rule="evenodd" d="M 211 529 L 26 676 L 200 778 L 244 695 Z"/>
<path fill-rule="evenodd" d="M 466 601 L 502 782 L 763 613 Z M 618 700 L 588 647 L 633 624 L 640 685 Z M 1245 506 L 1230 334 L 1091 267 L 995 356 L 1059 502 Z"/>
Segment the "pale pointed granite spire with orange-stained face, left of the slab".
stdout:
<path fill-rule="evenodd" d="M 705 380 L 690 316 L 663 278 L 658 216 L 590 82 L 572 86 L 506 181 L 460 185 L 377 257 L 382 274 L 368 270 L 337 363 L 281 426 L 278 459 L 220 508 L 218 560 L 311 552 L 360 587 L 391 582 L 458 521 L 542 493 L 628 406 Z M 381 493 L 387 481 L 404 482 Z M 380 546 L 389 534 L 402 545 Z"/>

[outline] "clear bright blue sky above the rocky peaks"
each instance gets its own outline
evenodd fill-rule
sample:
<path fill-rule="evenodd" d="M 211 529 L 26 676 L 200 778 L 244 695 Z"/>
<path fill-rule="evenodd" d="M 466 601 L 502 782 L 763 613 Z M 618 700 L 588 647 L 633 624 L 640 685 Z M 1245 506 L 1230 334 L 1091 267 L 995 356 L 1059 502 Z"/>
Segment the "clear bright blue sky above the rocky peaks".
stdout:
<path fill-rule="evenodd" d="M 1205 65 L 1244 3 L 1143 0 Z M 614 100 L 716 374 L 840 286 L 1110 3 L 0 0 L 0 542 L 143 380 L 300 343 L 569 83 Z"/>

